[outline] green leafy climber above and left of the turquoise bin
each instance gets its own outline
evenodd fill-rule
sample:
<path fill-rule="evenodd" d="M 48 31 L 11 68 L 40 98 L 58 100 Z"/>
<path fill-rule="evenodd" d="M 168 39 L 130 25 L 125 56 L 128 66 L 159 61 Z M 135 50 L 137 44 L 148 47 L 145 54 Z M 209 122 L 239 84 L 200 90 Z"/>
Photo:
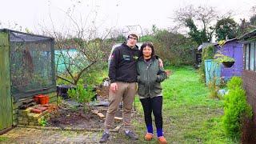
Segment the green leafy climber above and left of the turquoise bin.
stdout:
<path fill-rule="evenodd" d="M 206 66 L 205 60 L 206 59 L 213 59 L 214 58 L 214 46 L 207 46 L 206 48 L 202 49 L 202 63 L 199 68 L 200 79 L 202 82 L 206 81 Z"/>

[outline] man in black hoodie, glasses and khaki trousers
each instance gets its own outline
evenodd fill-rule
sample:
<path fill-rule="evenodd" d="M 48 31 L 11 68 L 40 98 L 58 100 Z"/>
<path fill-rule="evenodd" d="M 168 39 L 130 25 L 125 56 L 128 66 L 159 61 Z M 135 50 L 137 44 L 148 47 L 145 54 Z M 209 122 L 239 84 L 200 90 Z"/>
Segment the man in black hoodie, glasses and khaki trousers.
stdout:
<path fill-rule="evenodd" d="M 124 133 L 128 138 L 137 140 L 138 136 L 131 130 L 131 110 L 136 91 L 136 62 L 140 55 L 138 46 L 138 34 L 131 32 L 127 41 L 114 49 L 110 60 L 110 104 L 106 112 L 105 130 L 100 142 L 106 142 L 110 138 L 110 127 L 114 122 L 114 114 L 118 110 L 119 103 L 123 103 Z"/>

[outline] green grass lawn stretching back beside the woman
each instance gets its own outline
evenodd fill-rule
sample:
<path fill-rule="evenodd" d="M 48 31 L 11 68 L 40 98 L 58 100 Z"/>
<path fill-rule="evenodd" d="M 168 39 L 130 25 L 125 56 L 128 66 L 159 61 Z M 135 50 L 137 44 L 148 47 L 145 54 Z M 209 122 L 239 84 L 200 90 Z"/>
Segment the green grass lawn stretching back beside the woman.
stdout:
<path fill-rule="evenodd" d="M 163 127 L 167 141 L 170 143 L 238 143 L 226 138 L 221 122 L 223 103 L 221 100 L 209 98 L 209 90 L 199 82 L 197 71 L 190 66 L 167 67 L 167 69 L 173 71 L 170 78 L 162 82 Z M 134 126 L 140 139 L 143 139 L 146 127 L 142 118 L 142 106 L 138 99 L 136 105 L 139 117 L 134 121 Z"/>

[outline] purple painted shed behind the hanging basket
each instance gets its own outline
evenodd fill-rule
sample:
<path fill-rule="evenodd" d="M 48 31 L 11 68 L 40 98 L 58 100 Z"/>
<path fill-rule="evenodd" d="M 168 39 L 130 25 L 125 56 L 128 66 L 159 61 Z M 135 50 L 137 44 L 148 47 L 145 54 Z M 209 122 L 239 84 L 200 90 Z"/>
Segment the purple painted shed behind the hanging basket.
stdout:
<path fill-rule="evenodd" d="M 214 46 L 221 52 L 221 54 L 235 59 L 234 65 L 232 67 L 227 68 L 223 65 L 221 66 L 221 77 L 225 80 L 228 80 L 232 76 L 242 76 L 242 43 L 238 42 L 237 38 L 233 38 L 227 40 L 222 47 L 218 44 Z"/>

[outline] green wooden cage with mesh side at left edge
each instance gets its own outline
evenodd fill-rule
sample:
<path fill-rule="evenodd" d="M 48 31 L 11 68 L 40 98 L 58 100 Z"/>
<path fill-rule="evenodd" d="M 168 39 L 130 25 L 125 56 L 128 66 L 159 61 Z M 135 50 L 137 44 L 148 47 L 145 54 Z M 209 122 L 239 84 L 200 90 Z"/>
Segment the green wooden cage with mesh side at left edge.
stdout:
<path fill-rule="evenodd" d="M 56 102 L 54 38 L 0 30 L 0 132 L 18 125 L 18 107 L 35 94 Z"/>

